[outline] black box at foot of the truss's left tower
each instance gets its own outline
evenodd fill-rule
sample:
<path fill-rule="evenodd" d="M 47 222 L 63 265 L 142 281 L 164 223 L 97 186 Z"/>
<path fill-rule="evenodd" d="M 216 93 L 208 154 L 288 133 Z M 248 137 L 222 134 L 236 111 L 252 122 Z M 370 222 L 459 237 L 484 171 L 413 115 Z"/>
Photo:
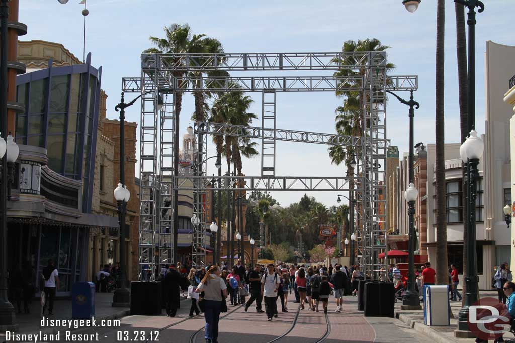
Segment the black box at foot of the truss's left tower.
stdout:
<path fill-rule="evenodd" d="M 131 282 L 130 314 L 149 316 L 161 314 L 161 282 Z"/>

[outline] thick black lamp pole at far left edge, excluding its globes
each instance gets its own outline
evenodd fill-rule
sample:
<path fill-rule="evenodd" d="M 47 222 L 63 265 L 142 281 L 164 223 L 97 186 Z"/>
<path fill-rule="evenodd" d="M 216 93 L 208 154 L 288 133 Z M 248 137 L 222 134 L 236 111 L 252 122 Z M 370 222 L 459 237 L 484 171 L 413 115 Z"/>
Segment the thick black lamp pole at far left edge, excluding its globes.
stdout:
<path fill-rule="evenodd" d="M 0 131 L 7 141 L 7 18 L 9 6 L 7 0 L 0 2 Z M 7 151 L 2 158 L 2 179 L 0 185 L 0 211 L 2 211 L 2 227 L 0 230 L 0 331 L 18 329 L 14 306 L 7 296 Z"/>

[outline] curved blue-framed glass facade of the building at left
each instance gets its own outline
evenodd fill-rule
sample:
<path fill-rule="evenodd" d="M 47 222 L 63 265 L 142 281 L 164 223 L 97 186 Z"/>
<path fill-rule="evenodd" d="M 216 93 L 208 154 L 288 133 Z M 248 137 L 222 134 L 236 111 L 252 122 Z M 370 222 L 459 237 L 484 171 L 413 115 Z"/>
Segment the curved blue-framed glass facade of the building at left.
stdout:
<path fill-rule="evenodd" d="M 82 211 L 91 212 L 102 68 L 90 64 L 49 67 L 16 78 L 15 140 L 47 149 L 48 167 L 82 180 Z"/>

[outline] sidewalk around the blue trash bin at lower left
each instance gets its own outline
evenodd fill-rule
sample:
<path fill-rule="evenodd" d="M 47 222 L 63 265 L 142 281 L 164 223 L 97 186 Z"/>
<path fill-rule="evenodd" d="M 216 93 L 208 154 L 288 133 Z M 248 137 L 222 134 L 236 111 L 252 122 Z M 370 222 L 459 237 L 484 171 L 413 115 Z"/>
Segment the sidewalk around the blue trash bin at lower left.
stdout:
<path fill-rule="evenodd" d="M 185 297 L 181 297 L 181 300 Z M 130 314 L 129 308 L 113 308 L 111 303 L 113 301 L 113 293 L 95 293 L 95 319 L 119 319 Z M 18 306 L 14 303 L 15 311 L 18 311 Z M 22 303 L 23 307 L 23 303 Z M 23 311 L 23 308 L 22 308 Z M 48 328 L 48 327 L 40 327 L 40 312 L 41 305 L 39 302 L 39 298 L 34 299 L 32 301 L 32 307 L 30 309 L 30 314 L 16 314 L 16 323 L 19 325 L 18 333 L 30 334 L 30 333 L 39 333 L 40 331 L 43 334 L 54 334 L 57 331 L 63 331 L 63 328 Z M 48 312 L 46 313 L 46 317 L 50 319 L 72 319 L 72 300 L 70 298 L 67 299 L 58 299 L 54 302 L 54 313 L 55 315 L 52 317 L 48 317 Z M 79 328 L 82 329 L 82 328 Z M 66 329 L 67 330 L 67 329 Z M 77 329 L 71 329 L 77 330 Z M 5 341 L 5 332 L 0 332 L 0 342 Z"/>

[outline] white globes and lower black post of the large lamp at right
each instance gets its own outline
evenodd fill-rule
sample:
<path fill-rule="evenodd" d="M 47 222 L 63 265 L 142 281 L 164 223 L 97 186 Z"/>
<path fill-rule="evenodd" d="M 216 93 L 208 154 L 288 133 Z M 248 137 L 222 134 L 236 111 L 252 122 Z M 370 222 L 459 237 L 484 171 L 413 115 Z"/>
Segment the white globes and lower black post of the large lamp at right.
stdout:
<path fill-rule="evenodd" d="M 465 189 L 467 191 L 467 204 L 466 204 L 466 221 L 467 221 L 467 275 L 465 276 L 466 293 L 465 305 L 458 314 L 458 331 L 455 332 L 459 337 L 471 337 L 468 326 L 468 314 L 470 305 L 479 299 L 479 289 L 477 283 L 479 277 L 477 276 L 477 252 L 476 246 L 476 194 L 477 194 L 477 180 L 480 179 L 477 165 L 479 158 L 483 156 L 485 145 L 483 140 L 477 137 L 477 132 L 472 129 L 470 135 L 459 148 L 459 155 L 461 160 L 466 165 L 466 178 Z M 506 213 L 506 212 L 505 212 Z M 469 334 L 470 333 L 470 334 Z"/>

